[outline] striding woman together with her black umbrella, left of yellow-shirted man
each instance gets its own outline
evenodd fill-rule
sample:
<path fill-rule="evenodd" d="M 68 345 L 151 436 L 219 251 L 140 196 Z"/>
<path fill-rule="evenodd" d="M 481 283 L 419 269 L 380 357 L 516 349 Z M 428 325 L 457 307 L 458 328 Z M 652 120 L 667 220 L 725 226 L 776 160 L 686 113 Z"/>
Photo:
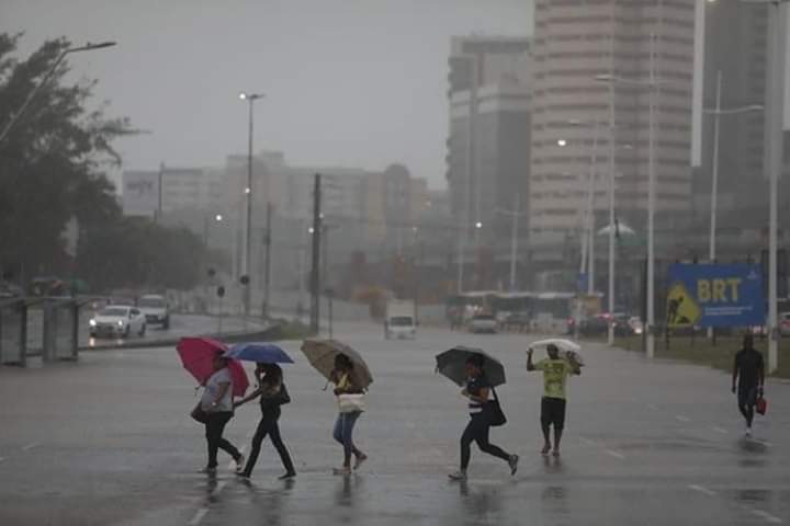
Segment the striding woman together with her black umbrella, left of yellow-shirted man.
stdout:
<path fill-rule="evenodd" d="M 461 361 L 459 359 L 461 358 Z M 465 359 L 464 359 L 465 358 Z M 488 364 L 486 364 L 488 362 Z M 463 364 L 463 373 L 460 366 Z M 497 366 L 501 369 L 497 376 L 501 381 L 489 379 L 485 373 L 486 365 Z M 461 469 L 451 473 L 452 480 L 466 480 L 466 468 L 472 456 L 471 445 L 473 442 L 483 453 L 501 458 L 510 467 L 510 474 L 516 474 L 518 469 L 518 455 L 510 455 L 488 442 L 488 433 L 492 427 L 490 413 L 486 405 L 492 403 L 490 395 L 495 384 L 505 382 L 505 371 L 499 362 L 488 358 L 482 353 L 472 350 L 455 347 L 437 356 L 437 369 L 456 384 L 464 384 L 461 395 L 469 399 L 470 422 L 461 435 Z M 463 376 L 464 378 L 462 378 Z"/>

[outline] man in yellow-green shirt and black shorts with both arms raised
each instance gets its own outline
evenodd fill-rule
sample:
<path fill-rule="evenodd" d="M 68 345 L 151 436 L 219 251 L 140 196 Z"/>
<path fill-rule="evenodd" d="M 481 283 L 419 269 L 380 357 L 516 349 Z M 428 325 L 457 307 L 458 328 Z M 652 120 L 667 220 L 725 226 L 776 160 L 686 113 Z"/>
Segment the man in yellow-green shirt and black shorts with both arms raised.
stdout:
<path fill-rule="evenodd" d="M 552 451 L 551 427 L 554 426 L 554 450 L 560 456 L 560 441 L 565 428 L 566 392 L 565 384 L 571 375 L 580 375 L 582 368 L 575 362 L 560 357 L 554 344 L 546 346 L 548 358 L 532 363 L 532 348 L 527 351 L 527 370 L 543 371 L 543 398 L 541 399 L 541 430 L 543 431 L 542 455 Z"/>

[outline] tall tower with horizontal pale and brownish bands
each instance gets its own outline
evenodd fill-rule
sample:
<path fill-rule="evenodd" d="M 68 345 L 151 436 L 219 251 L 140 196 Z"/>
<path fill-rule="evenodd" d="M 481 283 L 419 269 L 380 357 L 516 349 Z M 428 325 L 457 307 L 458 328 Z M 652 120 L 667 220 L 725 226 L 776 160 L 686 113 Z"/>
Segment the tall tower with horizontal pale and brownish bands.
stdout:
<path fill-rule="evenodd" d="M 572 268 L 578 268 L 571 254 L 579 252 L 590 173 L 596 229 L 609 221 L 611 148 L 618 220 L 641 236 L 647 220 L 651 89 L 610 84 L 598 76 L 645 82 L 653 69 L 659 79 L 654 96 L 656 221 L 670 229 L 690 210 L 695 4 L 535 1 L 530 243 L 538 268 L 567 262 L 571 286 Z M 612 99 L 616 126 L 610 132 Z"/>

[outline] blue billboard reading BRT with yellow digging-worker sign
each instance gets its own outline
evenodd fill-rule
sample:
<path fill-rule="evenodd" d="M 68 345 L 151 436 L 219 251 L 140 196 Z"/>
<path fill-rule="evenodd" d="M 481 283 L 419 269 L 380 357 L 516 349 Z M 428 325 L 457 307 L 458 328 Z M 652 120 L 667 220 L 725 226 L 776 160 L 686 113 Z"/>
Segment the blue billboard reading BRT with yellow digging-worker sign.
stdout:
<path fill-rule="evenodd" d="M 758 265 L 677 263 L 669 266 L 667 325 L 748 327 L 765 323 Z"/>

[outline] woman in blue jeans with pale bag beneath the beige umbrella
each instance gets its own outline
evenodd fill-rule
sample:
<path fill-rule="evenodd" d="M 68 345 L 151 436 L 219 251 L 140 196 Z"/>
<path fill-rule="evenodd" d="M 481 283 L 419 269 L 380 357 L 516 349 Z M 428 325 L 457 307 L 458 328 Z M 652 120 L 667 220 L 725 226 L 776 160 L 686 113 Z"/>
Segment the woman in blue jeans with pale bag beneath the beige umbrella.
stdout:
<path fill-rule="evenodd" d="M 343 446 L 342 468 L 335 469 L 335 474 L 351 473 L 351 456 L 356 458 L 353 469 L 357 470 L 368 460 L 353 443 L 353 428 L 364 411 L 364 389 L 354 384 L 353 363 L 345 354 L 335 356 L 335 368 L 330 375 L 335 384 L 335 396 L 338 399 L 338 418 L 335 422 L 334 438 Z"/>

